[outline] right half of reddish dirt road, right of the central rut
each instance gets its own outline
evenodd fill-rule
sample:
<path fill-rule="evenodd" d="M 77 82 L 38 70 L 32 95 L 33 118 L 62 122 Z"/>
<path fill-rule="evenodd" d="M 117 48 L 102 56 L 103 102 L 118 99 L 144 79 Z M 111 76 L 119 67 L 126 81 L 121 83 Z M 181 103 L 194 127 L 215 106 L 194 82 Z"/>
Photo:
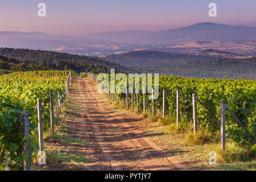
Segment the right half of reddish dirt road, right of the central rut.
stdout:
<path fill-rule="evenodd" d="M 82 112 L 92 126 L 102 153 L 113 170 L 179 170 L 185 164 L 173 162 L 171 155 L 156 146 L 140 130 L 143 118 L 125 114 L 97 92 L 96 83 L 88 78 L 77 78 Z"/>

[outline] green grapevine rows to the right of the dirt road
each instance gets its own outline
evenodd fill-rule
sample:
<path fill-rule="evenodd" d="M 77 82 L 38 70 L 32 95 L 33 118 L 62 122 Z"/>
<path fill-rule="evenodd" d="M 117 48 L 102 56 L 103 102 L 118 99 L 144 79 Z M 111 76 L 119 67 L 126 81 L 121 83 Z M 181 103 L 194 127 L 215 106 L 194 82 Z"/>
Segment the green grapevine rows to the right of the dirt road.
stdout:
<path fill-rule="evenodd" d="M 150 115 L 155 115 L 162 121 L 168 116 L 171 118 L 176 117 L 176 98 L 178 90 L 178 92 L 180 92 L 180 123 L 187 127 L 193 127 L 192 95 L 195 94 L 197 100 L 200 102 L 200 104 L 196 105 L 197 127 L 199 127 L 200 130 L 210 132 L 220 131 L 221 100 L 225 100 L 229 109 L 232 110 L 234 115 L 238 118 L 237 122 L 232 115 L 226 114 L 225 131 L 228 134 L 226 138 L 233 140 L 240 146 L 249 147 L 251 150 L 255 150 L 256 148 L 256 82 L 254 80 L 159 76 L 159 97 L 152 101 L 147 97 L 147 94 L 151 94 L 151 90 L 147 90 L 147 92 L 143 93 L 141 82 L 138 94 L 135 88 L 133 88 L 134 94 L 118 94 L 113 92 L 113 90 L 110 91 L 108 87 L 104 88 L 101 79 L 97 79 L 97 75 L 94 73 L 88 73 L 88 75 L 93 78 L 94 81 L 98 81 L 98 84 L 102 86 L 103 90 L 105 89 L 104 92 L 108 94 L 112 100 L 118 101 L 119 104 L 123 106 L 125 106 L 126 102 L 126 107 L 133 107 L 133 103 L 135 103 L 139 112 L 144 111 L 145 113 L 150 113 Z M 115 80 L 115 85 L 117 85 L 118 82 L 119 81 Z M 127 78 L 127 83 L 129 83 L 129 78 Z M 152 86 L 154 88 L 154 82 Z M 131 88 L 128 87 L 126 88 L 126 90 L 130 89 Z M 164 92 L 166 95 L 163 97 Z M 165 98 L 165 117 L 162 116 L 163 98 Z"/>

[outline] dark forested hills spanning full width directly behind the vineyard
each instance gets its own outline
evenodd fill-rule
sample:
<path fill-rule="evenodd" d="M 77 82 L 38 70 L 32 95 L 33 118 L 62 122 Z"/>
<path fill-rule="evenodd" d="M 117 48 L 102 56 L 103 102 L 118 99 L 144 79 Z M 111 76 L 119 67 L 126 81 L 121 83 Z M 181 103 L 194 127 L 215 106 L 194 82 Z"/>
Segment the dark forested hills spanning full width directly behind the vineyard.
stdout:
<path fill-rule="evenodd" d="M 90 72 L 92 70 L 109 73 L 110 68 L 115 68 L 116 73 L 159 73 L 160 75 L 167 76 L 174 75 L 195 78 L 256 78 L 256 57 L 250 59 L 215 58 L 216 60 L 193 62 L 190 62 L 192 59 L 188 59 L 187 63 L 174 64 L 174 61 L 170 64 L 168 60 L 164 61 L 162 59 L 159 61 L 157 56 L 152 56 L 152 58 L 145 56 L 150 62 L 149 64 L 146 64 L 146 61 L 142 61 L 143 63 L 137 63 L 139 65 L 128 66 L 127 64 L 129 62 L 135 64 L 133 63 L 134 60 L 128 59 L 128 57 L 126 59 L 126 65 L 120 65 L 96 57 L 52 51 L 1 48 L 1 53 L 5 56 L 0 56 L 0 75 L 15 71 L 62 71 L 65 69 L 72 69 L 78 73 Z M 175 57 L 175 54 L 173 56 Z M 179 56 L 175 57 L 176 61 L 180 60 L 180 62 L 184 62 L 185 55 L 182 55 L 180 58 Z M 200 59 L 203 59 L 203 57 Z"/>

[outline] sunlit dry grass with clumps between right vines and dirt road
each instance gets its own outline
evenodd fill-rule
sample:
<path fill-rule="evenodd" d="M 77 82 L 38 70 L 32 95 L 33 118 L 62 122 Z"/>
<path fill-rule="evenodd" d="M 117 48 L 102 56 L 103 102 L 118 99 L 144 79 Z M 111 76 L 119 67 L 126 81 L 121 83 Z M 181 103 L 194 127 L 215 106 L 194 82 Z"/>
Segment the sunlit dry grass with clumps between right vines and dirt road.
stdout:
<path fill-rule="evenodd" d="M 125 108 L 114 102 L 115 106 Z M 127 111 L 127 109 L 125 110 Z M 131 111 L 131 109 L 129 109 Z M 137 111 L 135 109 L 135 111 Z M 197 134 L 193 134 L 192 125 L 181 121 L 176 126 L 176 117 L 161 113 L 152 116 L 151 113 L 140 114 L 147 116 L 151 122 L 143 127 L 146 135 L 167 150 L 174 160 L 187 163 L 190 169 L 195 170 L 254 170 L 256 160 L 250 150 L 235 146 L 234 143 L 227 143 L 226 151 L 220 153 L 220 131 L 212 132 L 199 129 Z M 216 151 L 217 164 L 210 165 L 209 152 Z M 247 158 L 247 159 L 246 159 Z M 243 162 L 249 160 L 248 162 Z"/>

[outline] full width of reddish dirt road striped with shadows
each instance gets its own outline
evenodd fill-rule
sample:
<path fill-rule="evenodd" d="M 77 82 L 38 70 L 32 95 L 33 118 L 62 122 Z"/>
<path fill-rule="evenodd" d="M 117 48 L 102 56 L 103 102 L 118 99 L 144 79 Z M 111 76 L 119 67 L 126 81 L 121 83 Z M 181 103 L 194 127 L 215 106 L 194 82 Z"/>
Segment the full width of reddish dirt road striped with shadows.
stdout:
<path fill-rule="evenodd" d="M 77 170 L 180 170 L 186 166 L 174 162 L 171 155 L 156 146 L 142 128 L 145 119 L 114 106 L 96 83 L 88 78 L 73 78 L 67 114 L 72 119 L 65 125 L 72 137 L 89 144 L 65 144 L 93 162 L 66 166 Z M 75 108 L 76 109 L 72 109 Z M 58 143 L 61 146 L 61 143 Z M 61 167 L 60 167 L 61 168 Z"/>

